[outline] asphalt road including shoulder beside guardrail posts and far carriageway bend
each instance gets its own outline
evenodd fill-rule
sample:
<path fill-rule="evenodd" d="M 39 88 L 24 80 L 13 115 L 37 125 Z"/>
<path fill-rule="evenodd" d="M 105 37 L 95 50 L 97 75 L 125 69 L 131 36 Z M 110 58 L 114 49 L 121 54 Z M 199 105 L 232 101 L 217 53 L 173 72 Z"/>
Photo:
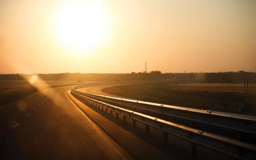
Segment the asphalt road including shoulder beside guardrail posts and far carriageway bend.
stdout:
<path fill-rule="evenodd" d="M 113 85 L 113 84 L 112 84 Z M 107 85 L 87 87 L 100 94 Z M 57 87 L 0 108 L 0 159 L 191 159 L 190 143 L 145 125 L 132 127 Z M 195 159 L 229 159 L 198 147 Z"/>

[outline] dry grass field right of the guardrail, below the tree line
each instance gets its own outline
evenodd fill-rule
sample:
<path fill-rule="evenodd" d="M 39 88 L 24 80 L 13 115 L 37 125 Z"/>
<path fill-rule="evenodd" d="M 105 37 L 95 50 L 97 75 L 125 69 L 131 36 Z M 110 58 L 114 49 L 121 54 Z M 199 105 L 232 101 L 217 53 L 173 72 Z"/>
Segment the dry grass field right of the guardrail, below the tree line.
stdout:
<path fill-rule="evenodd" d="M 235 113 L 245 101 L 243 84 L 148 83 L 103 89 L 104 92 L 142 101 Z M 249 84 L 248 103 L 243 113 L 256 115 L 256 84 Z"/>

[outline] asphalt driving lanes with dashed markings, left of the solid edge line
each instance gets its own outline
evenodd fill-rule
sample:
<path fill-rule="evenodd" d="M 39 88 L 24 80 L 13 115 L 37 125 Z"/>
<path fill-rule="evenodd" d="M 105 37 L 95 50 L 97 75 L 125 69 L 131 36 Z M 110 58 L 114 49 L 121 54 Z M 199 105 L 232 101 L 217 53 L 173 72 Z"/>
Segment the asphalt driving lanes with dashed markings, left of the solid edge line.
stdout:
<path fill-rule="evenodd" d="M 1 109 L 0 159 L 131 159 L 57 87 Z"/>

